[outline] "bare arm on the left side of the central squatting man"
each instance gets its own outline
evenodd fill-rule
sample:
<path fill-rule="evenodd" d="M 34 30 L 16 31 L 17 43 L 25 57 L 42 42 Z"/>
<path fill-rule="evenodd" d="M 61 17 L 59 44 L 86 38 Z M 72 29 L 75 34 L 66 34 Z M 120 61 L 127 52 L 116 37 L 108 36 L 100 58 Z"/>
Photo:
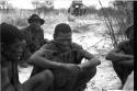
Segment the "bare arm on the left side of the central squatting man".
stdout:
<path fill-rule="evenodd" d="M 42 67 L 44 69 L 49 69 L 49 68 L 60 69 L 72 75 L 76 75 L 78 71 L 80 71 L 80 67 L 77 66 L 76 64 L 64 64 L 58 61 L 52 61 L 45 58 L 44 55 L 45 50 L 39 49 L 36 53 L 34 53 L 27 61 L 28 64 Z"/>

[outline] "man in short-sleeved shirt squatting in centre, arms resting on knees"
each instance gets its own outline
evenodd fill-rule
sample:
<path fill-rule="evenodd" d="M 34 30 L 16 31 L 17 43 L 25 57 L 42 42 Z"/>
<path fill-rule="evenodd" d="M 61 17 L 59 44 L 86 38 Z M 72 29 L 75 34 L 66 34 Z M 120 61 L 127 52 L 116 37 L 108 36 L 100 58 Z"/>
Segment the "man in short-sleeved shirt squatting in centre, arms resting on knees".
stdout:
<path fill-rule="evenodd" d="M 30 62 L 34 65 L 32 77 L 44 69 L 53 71 L 54 91 L 83 91 L 101 64 L 82 46 L 72 43 L 71 37 L 70 26 L 60 23 L 55 27 L 54 39 L 30 57 Z M 89 61 L 81 64 L 83 58 Z"/>

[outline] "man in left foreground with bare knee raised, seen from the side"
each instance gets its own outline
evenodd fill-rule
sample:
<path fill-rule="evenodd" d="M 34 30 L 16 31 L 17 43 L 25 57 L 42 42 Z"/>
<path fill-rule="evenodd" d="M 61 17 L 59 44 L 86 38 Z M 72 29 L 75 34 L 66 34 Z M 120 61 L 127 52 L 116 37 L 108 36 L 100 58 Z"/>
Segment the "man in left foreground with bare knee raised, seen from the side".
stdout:
<path fill-rule="evenodd" d="M 22 33 L 13 25 L 0 24 L 1 44 L 1 91 L 48 91 L 53 83 L 53 73 L 43 70 L 24 83 L 20 83 L 18 64 L 23 52 Z"/>

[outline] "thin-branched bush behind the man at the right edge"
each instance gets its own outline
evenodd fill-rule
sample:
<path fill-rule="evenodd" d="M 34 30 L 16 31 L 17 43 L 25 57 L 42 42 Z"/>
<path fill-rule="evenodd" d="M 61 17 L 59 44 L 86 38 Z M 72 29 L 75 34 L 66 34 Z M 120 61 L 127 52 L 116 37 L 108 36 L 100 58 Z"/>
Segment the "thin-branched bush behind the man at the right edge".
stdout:
<path fill-rule="evenodd" d="M 117 45 L 119 39 L 125 39 L 123 35 L 127 26 L 133 24 L 133 4 L 128 1 L 114 2 L 116 2 L 114 8 L 101 8 L 98 15 L 104 16 L 103 21 L 109 29 L 107 35 L 112 37 L 113 44 Z"/>

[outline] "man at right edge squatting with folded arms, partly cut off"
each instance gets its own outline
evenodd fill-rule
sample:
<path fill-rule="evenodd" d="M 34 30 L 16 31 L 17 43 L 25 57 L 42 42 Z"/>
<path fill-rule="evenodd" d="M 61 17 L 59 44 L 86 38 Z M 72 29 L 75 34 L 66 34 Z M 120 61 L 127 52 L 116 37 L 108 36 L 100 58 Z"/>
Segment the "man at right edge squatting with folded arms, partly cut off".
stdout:
<path fill-rule="evenodd" d="M 126 35 L 128 41 L 121 42 L 106 55 L 106 59 L 112 61 L 116 75 L 122 80 L 122 87 L 134 70 L 134 25 L 126 30 Z"/>

